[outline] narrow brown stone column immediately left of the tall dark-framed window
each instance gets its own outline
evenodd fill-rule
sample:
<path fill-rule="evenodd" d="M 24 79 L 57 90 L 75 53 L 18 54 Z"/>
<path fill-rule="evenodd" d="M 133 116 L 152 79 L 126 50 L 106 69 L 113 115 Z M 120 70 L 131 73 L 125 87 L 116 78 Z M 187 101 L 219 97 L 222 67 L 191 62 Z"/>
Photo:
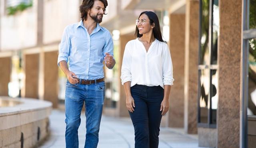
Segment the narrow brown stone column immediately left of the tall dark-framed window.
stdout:
<path fill-rule="evenodd" d="M 184 129 L 197 133 L 199 1 L 186 0 Z"/>

